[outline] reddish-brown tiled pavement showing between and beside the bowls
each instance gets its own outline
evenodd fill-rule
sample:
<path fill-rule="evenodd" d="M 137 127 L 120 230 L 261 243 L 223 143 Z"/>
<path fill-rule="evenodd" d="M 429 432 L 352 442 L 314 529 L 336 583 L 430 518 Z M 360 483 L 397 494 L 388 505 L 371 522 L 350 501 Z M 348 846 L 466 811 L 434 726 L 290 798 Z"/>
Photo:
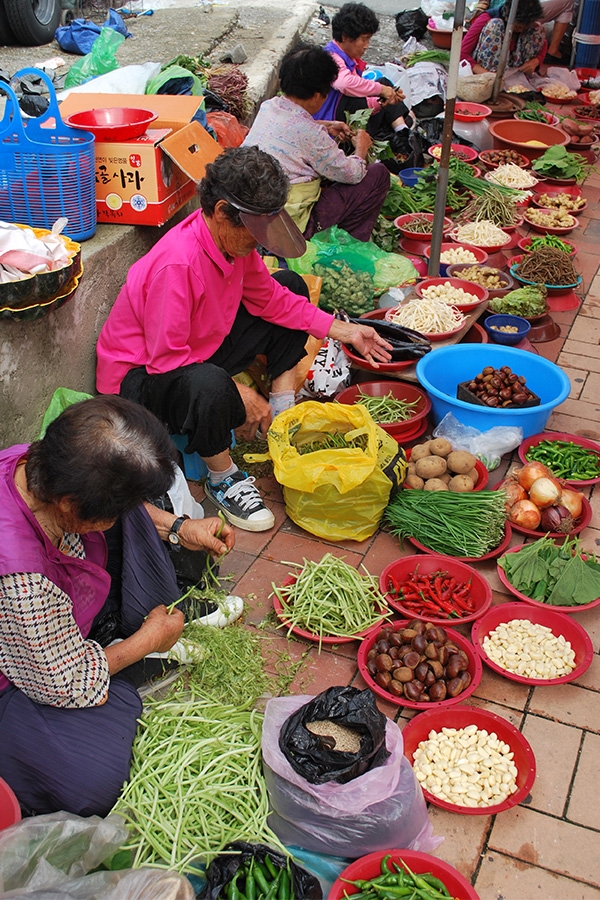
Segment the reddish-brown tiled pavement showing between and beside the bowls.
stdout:
<path fill-rule="evenodd" d="M 579 247 L 585 300 L 579 310 L 554 313 L 561 336 L 535 347 L 565 367 L 573 385 L 571 396 L 553 414 L 549 427 L 600 439 L 600 176 L 584 186 L 588 208 L 581 227 L 571 237 Z M 513 251 L 514 252 L 514 251 Z M 491 486 L 509 465 L 491 473 Z M 317 648 L 302 640 L 287 640 L 274 627 L 271 584 L 281 583 L 289 571 L 282 560 L 319 560 L 331 551 L 346 562 L 364 563 L 375 574 L 398 556 L 408 555 L 396 538 L 378 532 L 363 543 L 330 544 L 294 525 L 286 516 L 274 478 L 260 483 L 275 513 L 276 525 L 266 534 L 238 531 L 236 548 L 222 566 L 231 572 L 235 593 L 246 598 L 245 623 L 262 636 L 268 659 L 301 662 L 292 693 L 317 694 L 331 685 L 366 685 L 357 670 L 355 644 Z M 202 498 L 203 492 L 193 485 Z M 581 535 L 585 546 L 600 547 L 600 485 L 587 489 L 594 515 Z M 209 506 L 209 504 L 206 504 Z M 513 536 L 513 545 L 522 543 Z M 487 577 L 494 604 L 513 598 L 504 592 L 495 561 L 476 568 Z M 229 582 L 228 582 L 229 584 Z M 430 807 L 435 833 L 444 837 L 436 855 L 472 880 L 481 900 L 598 900 L 600 898 L 600 812 L 597 800 L 600 760 L 600 607 L 575 614 L 594 645 L 591 667 L 577 682 L 529 688 L 486 669 L 469 703 L 508 719 L 529 740 L 537 760 L 531 794 L 515 809 L 497 816 L 462 816 Z M 468 634 L 467 626 L 460 629 Z M 382 712 L 400 726 L 411 718 L 391 703 L 378 700 Z"/>

